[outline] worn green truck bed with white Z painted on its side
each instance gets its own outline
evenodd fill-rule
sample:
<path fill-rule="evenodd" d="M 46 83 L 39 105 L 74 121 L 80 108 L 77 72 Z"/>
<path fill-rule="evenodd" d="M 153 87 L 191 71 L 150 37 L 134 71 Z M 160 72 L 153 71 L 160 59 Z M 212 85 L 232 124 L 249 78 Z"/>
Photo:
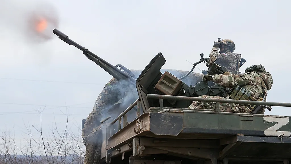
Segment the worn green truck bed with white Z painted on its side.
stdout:
<path fill-rule="evenodd" d="M 289 116 L 159 109 L 151 107 L 109 137 L 101 157 L 107 154 L 109 163 L 110 158 L 132 151 L 133 157 L 168 154 L 201 162 L 291 159 Z"/>

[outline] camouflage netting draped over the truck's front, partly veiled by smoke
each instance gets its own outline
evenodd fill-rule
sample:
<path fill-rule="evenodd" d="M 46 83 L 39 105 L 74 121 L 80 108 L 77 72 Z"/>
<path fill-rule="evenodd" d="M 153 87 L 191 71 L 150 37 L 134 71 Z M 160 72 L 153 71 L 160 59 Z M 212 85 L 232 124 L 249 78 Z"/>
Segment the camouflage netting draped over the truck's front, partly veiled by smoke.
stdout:
<path fill-rule="evenodd" d="M 137 78 L 142 70 L 131 71 Z M 188 71 L 172 69 L 161 69 L 160 71 L 162 73 L 168 71 L 178 78 L 188 73 Z M 188 86 L 194 86 L 199 81 L 202 81 L 202 77 L 203 74 L 192 72 L 182 81 Z M 93 111 L 89 114 L 84 124 L 82 137 L 86 146 L 86 155 L 84 160 L 85 164 L 99 163 L 102 144 L 102 127 L 100 121 L 107 116 L 111 116 L 110 120 L 108 120 L 108 122 L 111 122 L 122 111 L 129 107 L 129 105 L 133 103 L 137 98 L 138 95 L 136 87 L 129 85 L 125 81 L 116 81 L 115 78 L 112 78 L 105 85 L 95 102 Z M 135 111 L 131 110 L 127 113 L 127 115 L 128 121 L 132 121 L 135 119 Z"/>

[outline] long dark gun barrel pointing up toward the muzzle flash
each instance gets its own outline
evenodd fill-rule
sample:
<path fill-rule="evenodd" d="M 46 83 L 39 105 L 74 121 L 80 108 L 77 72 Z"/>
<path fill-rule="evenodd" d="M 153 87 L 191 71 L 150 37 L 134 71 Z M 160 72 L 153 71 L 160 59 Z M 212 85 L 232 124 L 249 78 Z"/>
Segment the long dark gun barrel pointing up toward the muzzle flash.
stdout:
<path fill-rule="evenodd" d="M 58 29 L 54 29 L 53 33 L 56 34 L 59 39 L 61 39 L 62 41 L 68 43 L 70 46 L 73 45 L 76 48 L 78 48 L 79 50 L 83 51 L 83 54 L 86 57 L 88 57 L 89 60 L 92 60 L 93 62 L 95 62 L 97 65 L 99 65 L 102 69 L 104 69 L 111 76 L 116 78 L 118 81 L 119 80 L 129 80 L 129 81 L 131 81 L 132 83 L 135 84 L 136 79 L 134 78 L 134 75 L 132 74 L 132 72 L 129 69 L 125 68 L 124 66 L 122 66 L 120 64 L 118 64 L 116 66 L 111 65 L 107 61 L 103 60 L 99 56 L 97 56 L 94 53 L 92 53 L 91 51 L 89 51 L 87 48 L 85 48 L 85 47 L 79 45 L 78 43 L 72 41 L 71 39 L 69 39 L 69 36 L 65 35 L 61 31 L 59 31 Z M 120 69 L 117 68 L 118 66 L 120 67 Z M 125 72 L 127 72 L 128 74 L 126 74 L 125 72 L 121 71 L 122 69 Z"/>

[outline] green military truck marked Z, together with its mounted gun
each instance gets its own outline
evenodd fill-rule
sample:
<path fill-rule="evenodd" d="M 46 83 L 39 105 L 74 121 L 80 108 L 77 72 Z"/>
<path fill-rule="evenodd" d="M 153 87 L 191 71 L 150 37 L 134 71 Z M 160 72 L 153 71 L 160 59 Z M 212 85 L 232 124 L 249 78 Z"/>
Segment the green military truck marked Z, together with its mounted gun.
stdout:
<path fill-rule="evenodd" d="M 219 111 L 219 102 L 255 104 L 258 107 L 291 107 L 290 103 L 200 98 L 199 95 L 223 96 L 228 91 L 219 85 L 209 86 L 204 81 L 187 86 L 181 78 L 168 71 L 162 74 L 160 69 L 166 62 L 162 53 L 158 53 L 135 79 L 128 69 L 123 68 L 126 73 L 115 69 L 117 67 L 106 63 L 65 34 L 56 29 L 54 33 L 78 47 L 96 64 L 111 68 L 108 72 L 116 79 L 134 83 L 138 93 L 138 98 L 129 107 L 114 119 L 110 120 L 111 116 L 107 116 L 84 138 L 86 155 L 91 155 L 86 156 L 85 162 L 291 163 L 290 116 Z M 205 60 L 201 55 L 199 63 Z M 216 68 L 223 70 L 219 65 Z M 187 107 L 192 101 L 214 102 L 216 109 L 189 110 Z M 136 118 L 131 122 L 127 119 L 130 111 L 136 112 Z M 84 124 L 83 121 L 82 129 Z"/>

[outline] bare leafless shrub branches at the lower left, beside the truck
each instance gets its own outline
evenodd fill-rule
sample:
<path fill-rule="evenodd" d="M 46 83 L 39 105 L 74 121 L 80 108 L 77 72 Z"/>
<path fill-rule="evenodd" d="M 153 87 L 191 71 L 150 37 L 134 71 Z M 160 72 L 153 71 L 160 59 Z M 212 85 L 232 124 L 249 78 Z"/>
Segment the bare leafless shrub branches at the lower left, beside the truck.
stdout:
<path fill-rule="evenodd" d="M 84 164 L 85 146 L 81 132 L 71 131 L 72 123 L 68 109 L 63 129 L 58 127 L 56 119 L 49 131 L 44 130 L 42 123 L 43 110 L 40 113 L 40 125 L 25 125 L 26 138 L 16 141 L 3 132 L 0 136 L 0 163 L 2 164 Z M 31 126 L 33 127 L 31 129 Z M 39 128 L 38 128 L 39 127 Z M 80 128 L 77 128 L 80 130 Z M 15 133 L 14 133 L 15 134 Z M 48 134 L 48 135 L 46 135 Z M 24 143 L 20 141 L 24 141 Z M 24 145 L 22 145 L 24 144 Z"/>

